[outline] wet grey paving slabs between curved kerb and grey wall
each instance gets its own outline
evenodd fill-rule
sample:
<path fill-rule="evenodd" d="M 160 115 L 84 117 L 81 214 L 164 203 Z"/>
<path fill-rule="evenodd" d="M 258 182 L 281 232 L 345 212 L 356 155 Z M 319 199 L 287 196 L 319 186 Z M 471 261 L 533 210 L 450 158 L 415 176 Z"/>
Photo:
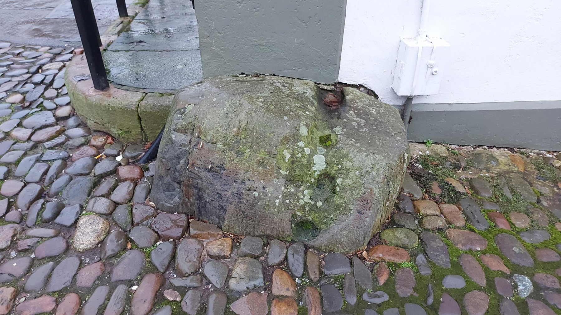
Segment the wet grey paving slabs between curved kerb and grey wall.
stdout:
<path fill-rule="evenodd" d="M 174 92 L 200 81 L 199 31 L 190 1 L 150 1 L 105 51 L 108 78 L 127 87 Z"/>

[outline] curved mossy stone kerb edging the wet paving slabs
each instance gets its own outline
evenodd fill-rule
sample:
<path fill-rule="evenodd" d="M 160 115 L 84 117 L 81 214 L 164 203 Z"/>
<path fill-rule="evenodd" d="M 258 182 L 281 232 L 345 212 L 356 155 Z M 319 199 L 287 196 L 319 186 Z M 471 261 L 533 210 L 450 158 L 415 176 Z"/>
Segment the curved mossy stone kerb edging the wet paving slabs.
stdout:
<path fill-rule="evenodd" d="M 143 3 L 145 4 L 145 3 Z M 142 4 L 128 7 L 130 17 L 119 18 L 101 35 L 106 49 L 140 12 Z M 76 113 L 90 129 L 104 131 L 126 143 L 153 140 L 165 125 L 173 95 L 127 91 L 109 85 L 95 90 L 85 55 L 68 63 L 65 75 L 68 96 Z"/>

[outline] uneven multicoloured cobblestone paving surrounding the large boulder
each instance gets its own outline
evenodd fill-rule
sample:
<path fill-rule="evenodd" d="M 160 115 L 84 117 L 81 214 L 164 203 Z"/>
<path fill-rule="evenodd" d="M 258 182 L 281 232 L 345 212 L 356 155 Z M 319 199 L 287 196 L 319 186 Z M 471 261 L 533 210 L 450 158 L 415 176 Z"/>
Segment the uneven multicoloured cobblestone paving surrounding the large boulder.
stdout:
<path fill-rule="evenodd" d="M 233 236 L 153 208 L 144 148 L 74 114 L 71 58 L 0 43 L 0 315 L 561 314 L 557 153 L 411 144 L 353 255 Z"/>

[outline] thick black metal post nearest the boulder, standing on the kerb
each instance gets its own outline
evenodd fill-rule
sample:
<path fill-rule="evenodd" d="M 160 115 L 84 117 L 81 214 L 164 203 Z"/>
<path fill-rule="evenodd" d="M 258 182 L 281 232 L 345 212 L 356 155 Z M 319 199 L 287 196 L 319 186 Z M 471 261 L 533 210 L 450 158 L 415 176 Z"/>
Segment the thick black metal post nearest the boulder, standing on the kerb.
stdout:
<path fill-rule="evenodd" d="M 88 67 L 90 68 L 91 80 L 94 82 L 95 90 L 105 90 L 109 87 L 102 53 L 99 50 L 101 40 L 99 38 L 98 23 L 95 21 L 94 9 L 90 0 L 70 0 L 72 10 L 76 18 L 76 25 L 80 32 L 82 46 Z"/>

